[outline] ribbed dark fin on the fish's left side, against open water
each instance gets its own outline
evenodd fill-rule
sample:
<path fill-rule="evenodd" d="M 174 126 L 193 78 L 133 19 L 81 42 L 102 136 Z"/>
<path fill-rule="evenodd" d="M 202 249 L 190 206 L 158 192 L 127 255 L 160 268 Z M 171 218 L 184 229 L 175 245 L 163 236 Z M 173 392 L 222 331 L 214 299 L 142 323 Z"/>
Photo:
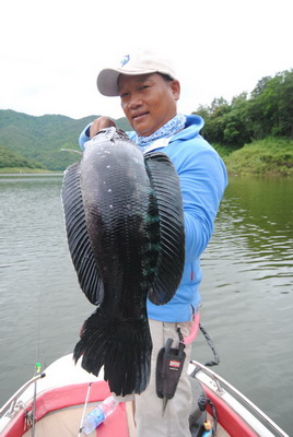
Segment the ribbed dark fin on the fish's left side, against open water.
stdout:
<path fill-rule="evenodd" d="M 92 304 L 97 305 L 103 302 L 104 286 L 98 274 L 85 222 L 80 184 L 80 162 L 68 167 L 65 173 L 62 203 L 69 250 L 81 290 Z"/>

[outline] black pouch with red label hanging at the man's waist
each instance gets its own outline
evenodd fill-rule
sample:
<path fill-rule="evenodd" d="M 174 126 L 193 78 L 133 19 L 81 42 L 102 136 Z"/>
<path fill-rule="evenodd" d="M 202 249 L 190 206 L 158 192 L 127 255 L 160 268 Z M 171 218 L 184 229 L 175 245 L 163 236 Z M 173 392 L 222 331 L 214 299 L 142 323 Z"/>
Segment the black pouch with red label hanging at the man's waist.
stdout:
<path fill-rule="evenodd" d="M 161 399 L 172 399 L 180 378 L 186 353 L 185 344 L 179 342 L 178 349 L 171 347 L 173 339 L 161 349 L 156 359 L 156 394 Z"/>

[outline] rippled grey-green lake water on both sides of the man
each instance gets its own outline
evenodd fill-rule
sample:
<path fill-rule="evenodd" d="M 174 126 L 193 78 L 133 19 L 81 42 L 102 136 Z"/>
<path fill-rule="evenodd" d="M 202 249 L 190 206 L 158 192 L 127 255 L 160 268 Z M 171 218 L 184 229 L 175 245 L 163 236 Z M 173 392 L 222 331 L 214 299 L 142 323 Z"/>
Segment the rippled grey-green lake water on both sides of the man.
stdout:
<path fill-rule="evenodd" d="M 61 176 L 0 177 L 0 404 L 71 353 L 93 306 L 71 264 Z M 201 322 L 216 373 L 293 426 L 293 180 L 231 178 L 202 256 Z M 199 334 L 194 358 L 212 358 Z"/>

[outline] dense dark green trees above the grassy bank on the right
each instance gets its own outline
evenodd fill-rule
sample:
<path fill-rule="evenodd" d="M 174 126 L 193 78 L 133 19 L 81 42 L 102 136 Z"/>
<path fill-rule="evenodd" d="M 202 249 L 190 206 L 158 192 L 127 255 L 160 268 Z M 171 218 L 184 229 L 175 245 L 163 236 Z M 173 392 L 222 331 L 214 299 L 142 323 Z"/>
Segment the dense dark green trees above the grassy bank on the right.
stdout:
<path fill-rule="evenodd" d="M 293 138 L 293 70 L 258 81 L 248 95 L 244 92 L 228 103 L 214 98 L 192 113 L 204 118 L 203 137 L 211 143 L 239 149 L 268 137 Z"/>

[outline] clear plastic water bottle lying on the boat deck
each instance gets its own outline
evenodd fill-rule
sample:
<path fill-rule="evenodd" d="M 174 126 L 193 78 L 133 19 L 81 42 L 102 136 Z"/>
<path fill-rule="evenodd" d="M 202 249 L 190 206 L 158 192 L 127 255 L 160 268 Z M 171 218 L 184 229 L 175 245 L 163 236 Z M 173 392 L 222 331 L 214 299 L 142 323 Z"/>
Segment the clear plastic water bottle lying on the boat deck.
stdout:
<path fill-rule="evenodd" d="M 91 434 L 102 422 L 105 421 L 118 406 L 119 401 L 114 395 L 108 397 L 105 401 L 101 402 L 87 416 L 82 424 L 84 434 Z"/>

